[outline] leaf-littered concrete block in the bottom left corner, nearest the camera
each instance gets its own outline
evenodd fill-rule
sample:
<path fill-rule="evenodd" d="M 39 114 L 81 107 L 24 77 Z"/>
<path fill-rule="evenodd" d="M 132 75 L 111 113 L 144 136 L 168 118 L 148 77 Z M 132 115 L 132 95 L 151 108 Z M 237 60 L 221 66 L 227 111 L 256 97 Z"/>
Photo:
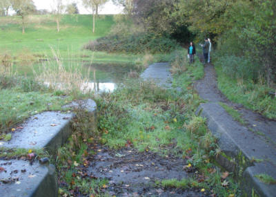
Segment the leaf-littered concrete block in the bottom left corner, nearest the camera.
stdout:
<path fill-rule="evenodd" d="M 49 197 L 58 196 L 55 167 L 23 160 L 0 160 L 1 197 Z M 5 182 L 5 183 L 4 183 Z"/>

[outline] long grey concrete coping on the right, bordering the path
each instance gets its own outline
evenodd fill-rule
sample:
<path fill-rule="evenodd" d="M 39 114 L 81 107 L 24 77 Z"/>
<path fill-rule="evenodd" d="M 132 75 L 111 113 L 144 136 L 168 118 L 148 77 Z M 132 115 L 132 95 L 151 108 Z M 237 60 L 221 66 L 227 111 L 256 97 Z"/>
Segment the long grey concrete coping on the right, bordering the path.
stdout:
<path fill-rule="evenodd" d="M 254 188 L 259 196 L 275 196 L 276 186 L 260 182 L 255 176 L 266 173 L 276 179 L 276 150 L 242 126 L 217 103 L 200 104 L 197 114 L 207 119 L 208 129 L 218 140 L 219 148 L 229 158 L 218 157 L 217 162 L 230 171 L 241 172 L 242 185 L 247 194 Z M 253 162 L 260 159 L 261 162 Z M 248 162 L 249 161 L 249 162 Z M 235 165 L 235 166 L 233 166 Z M 274 192 L 273 192 L 274 191 Z"/>

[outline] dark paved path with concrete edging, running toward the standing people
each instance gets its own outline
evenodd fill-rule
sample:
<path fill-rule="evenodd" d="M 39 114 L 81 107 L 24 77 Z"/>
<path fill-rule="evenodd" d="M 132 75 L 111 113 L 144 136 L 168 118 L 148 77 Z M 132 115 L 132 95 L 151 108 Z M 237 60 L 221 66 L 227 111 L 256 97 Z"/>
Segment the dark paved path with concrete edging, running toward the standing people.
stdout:
<path fill-rule="evenodd" d="M 199 106 L 201 116 L 207 118 L 208 128 L 218 138 L 221 151 L 234 158 L 234 162 L 221 158 L 219 164 L 238 173 L 243 169 L 239 176 L 249 195 L 254 188 L 259 196 L 275 196 L 276 185 L 264 184 L 255 176 L 265 173 L 276 179 L 276 121 L 250 111 L 242 104 L 230 102 L 217 88 L 213 65 L 208 64 L 204 70 L 204 78 L 195 83 L 199 96 L 207 101 Z M 246 123 L 233 120 L 219 102 L 236 109 Z M 241 153 L 247 162 L 241 160 Z M 256 159 L 261 162 L 256 162 Z"/>

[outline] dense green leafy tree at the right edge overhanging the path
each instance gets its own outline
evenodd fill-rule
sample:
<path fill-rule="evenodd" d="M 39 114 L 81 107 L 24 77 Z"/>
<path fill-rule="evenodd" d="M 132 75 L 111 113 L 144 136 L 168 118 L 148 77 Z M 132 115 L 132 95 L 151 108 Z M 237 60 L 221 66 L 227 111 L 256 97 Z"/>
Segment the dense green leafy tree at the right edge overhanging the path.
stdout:
<path fill-rule="evenodd" d="M 230 15 L 233 26 L 224 42 L 242 43 L 238 53 L 259 64 L 259 75 L 266 77 L 268 86 L 276 83 L 276 2 L 240 1 Z"/>

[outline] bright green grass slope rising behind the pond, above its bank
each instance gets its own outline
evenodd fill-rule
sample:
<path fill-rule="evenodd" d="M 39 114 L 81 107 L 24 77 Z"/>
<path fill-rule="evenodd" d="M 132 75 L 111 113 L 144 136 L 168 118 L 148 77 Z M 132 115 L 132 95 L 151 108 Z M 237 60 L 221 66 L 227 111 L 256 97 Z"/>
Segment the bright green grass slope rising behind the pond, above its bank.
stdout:
<path fill-rule="evenodd" d="M 50 48 L 59 50 L 61 55 L 66 55 L 68 51 L 79 53 L 83 44 L 106 35 L 112 24 L 111 15 L 99 16 L 93 33 L 91 15 L 63 15 L 60 32 L 57 32 L 52 15 L 31 15 L 28 16 L 26 33 L 22 34 L 20 17 L 0 17 L 0 50 L 10 55 L 26 51 L 50 54 Z"/>

